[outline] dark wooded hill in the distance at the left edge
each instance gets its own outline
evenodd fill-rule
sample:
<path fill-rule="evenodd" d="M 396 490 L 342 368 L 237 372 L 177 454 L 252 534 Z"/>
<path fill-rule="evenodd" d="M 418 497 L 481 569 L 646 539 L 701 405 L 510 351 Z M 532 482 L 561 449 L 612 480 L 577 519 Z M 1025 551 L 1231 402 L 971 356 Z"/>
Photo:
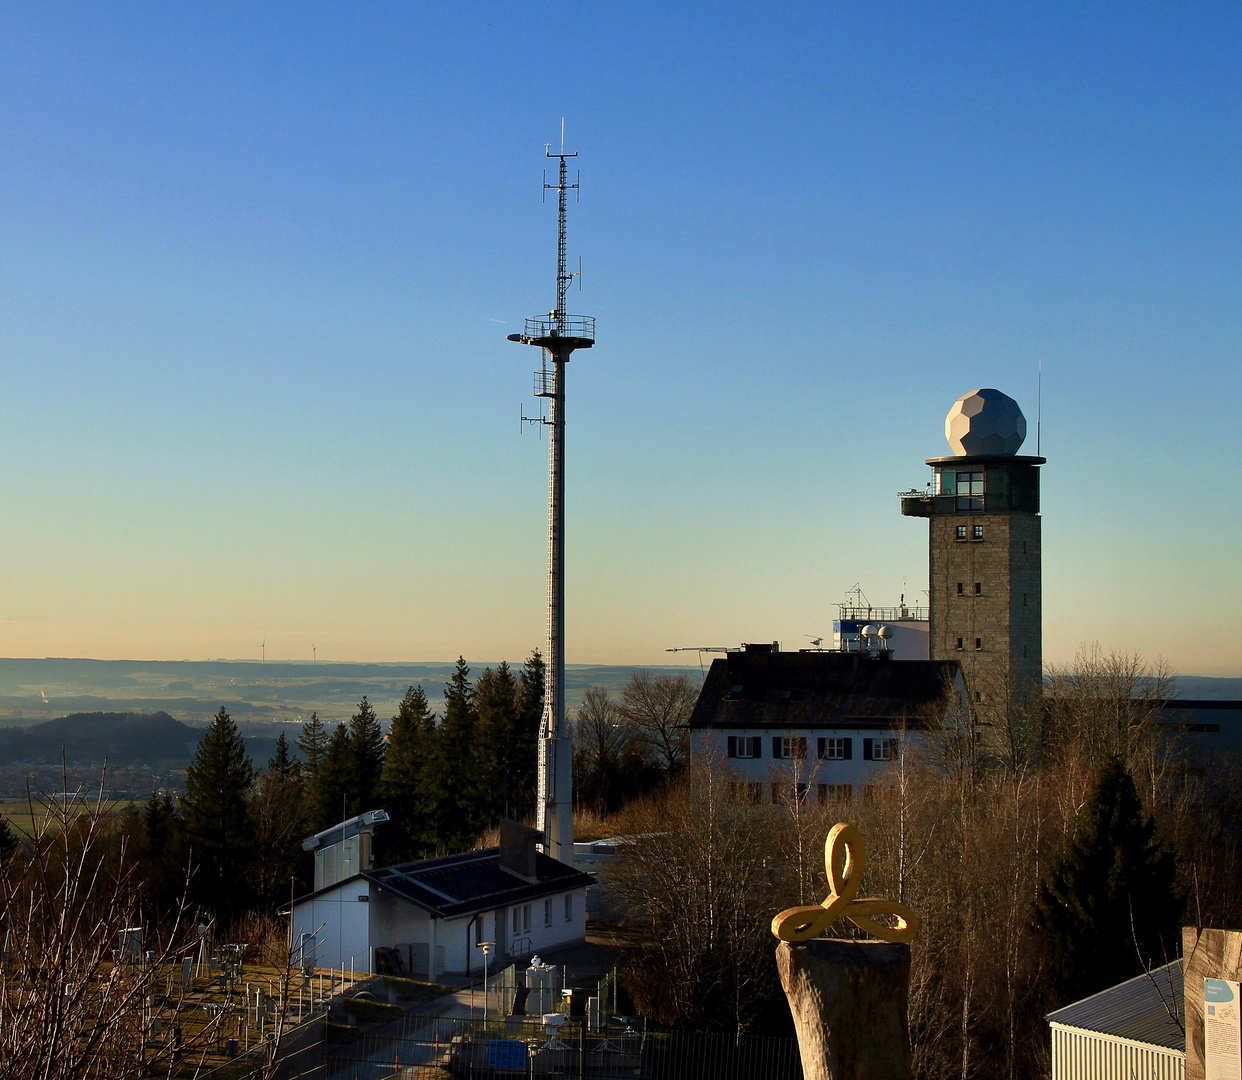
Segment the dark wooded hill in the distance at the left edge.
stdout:
<path fill-rule="evenodd" d="M 194 756 L 201 736 L 201 729 L 174 720 L 168 713 L 75 713 L 0 731 L 0 765 L 57 762 L 63 746 L 70 765 L 107 758 L 116 767 L 179 767 Z"/>

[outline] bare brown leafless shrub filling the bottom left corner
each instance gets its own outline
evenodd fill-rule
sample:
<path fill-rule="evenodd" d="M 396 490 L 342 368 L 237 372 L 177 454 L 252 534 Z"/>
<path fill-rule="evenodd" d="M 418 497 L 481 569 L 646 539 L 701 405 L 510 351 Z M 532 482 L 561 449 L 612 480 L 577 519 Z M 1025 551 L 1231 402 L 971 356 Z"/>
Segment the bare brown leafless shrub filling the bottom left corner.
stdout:
<path fill-rule="evenodd" d="M 161 935 L 144 935 L 137 862 L 102 785 L 91 801 L 32 796 L 30 809 L 34 834 L 0 866 L 0 1078 L 169 1073 L 214 1034 L 210 1023 L 194 1038 L 153 1023 L 161 977 L 196 945 L 184 905 Z M 174 994 L 169 1010 L 178 1007 Z"/>

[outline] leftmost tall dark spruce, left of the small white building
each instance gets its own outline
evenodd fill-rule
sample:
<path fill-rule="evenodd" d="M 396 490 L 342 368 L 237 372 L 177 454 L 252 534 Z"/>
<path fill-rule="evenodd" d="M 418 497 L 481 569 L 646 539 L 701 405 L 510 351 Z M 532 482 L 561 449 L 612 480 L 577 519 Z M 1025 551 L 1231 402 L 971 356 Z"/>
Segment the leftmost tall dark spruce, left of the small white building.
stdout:
<path fill-rule="evenodd" d="M 185 773 L 181 812 L 195 866 L 193 895 L 227 919 L 250 899 L 251 828 L 246 797 L 255 768 L 246 742 L 221 705 Z"/>

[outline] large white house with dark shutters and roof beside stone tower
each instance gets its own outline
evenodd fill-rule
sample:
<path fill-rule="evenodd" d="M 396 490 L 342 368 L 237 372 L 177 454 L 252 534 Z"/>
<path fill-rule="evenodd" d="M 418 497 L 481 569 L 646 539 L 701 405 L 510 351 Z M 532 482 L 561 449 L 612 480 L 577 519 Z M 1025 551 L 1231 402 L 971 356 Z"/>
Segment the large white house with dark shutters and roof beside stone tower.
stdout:
<path fill-rule="evenodd" d="M 712 662 L 689 720 L 691 755 L 720 761 L 746 802 L 796 791 L 846 803 L 882 783 L 907 742 L 953 708 L 966 708 L 955 660 L 744 646 Z"/>

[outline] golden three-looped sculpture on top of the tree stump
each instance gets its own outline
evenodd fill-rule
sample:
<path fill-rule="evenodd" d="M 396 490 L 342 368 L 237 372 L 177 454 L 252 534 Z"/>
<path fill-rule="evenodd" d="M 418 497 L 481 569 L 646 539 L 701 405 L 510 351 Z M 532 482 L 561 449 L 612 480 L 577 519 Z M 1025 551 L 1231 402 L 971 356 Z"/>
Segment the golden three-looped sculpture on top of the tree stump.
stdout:
<path fill-rule="evenodd" d="M 773 934 L 781 941 L 810 941 L 832 922 L 848 919 L 859 930 L 881 941 L 908 943 L 919 932 L 919 916 L 904 904 L 873 896 L 856 900 L 867 866 L 867 845 L 862 833 L 843 822 L 835 824 L 823 844 L 823 865 L 828 871 L 828 893 L 814 907 L 789 907 L 773 920 Z M 873 915 L 892 915 L 895 926 L 877 922 Z"/>

